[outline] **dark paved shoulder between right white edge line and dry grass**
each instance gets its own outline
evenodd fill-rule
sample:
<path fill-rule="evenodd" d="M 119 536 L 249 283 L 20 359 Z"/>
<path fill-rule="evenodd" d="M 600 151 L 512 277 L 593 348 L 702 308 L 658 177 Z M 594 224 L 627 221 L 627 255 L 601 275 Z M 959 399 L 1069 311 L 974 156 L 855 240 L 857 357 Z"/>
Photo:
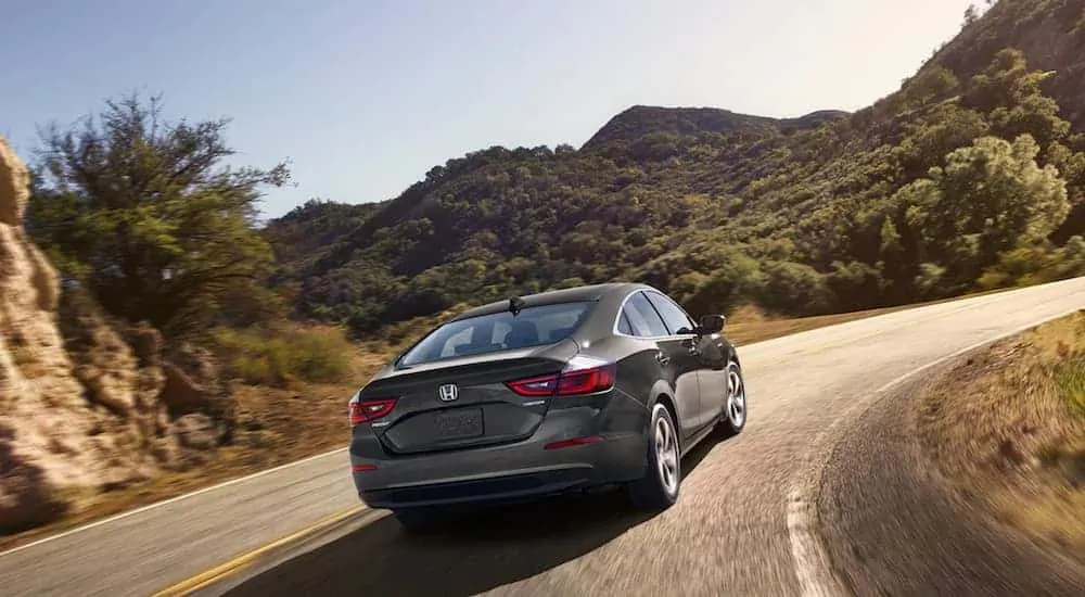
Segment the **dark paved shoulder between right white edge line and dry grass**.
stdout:
<path fill-rule="evenodd" d="M 992 516 L 920 440 L 920 406 L 987 351 L 908 379 L 842 425 L 817 513 L 831 564 L 854 594 L 1073 595 L 1085 586 L 1085 566 Z"/>

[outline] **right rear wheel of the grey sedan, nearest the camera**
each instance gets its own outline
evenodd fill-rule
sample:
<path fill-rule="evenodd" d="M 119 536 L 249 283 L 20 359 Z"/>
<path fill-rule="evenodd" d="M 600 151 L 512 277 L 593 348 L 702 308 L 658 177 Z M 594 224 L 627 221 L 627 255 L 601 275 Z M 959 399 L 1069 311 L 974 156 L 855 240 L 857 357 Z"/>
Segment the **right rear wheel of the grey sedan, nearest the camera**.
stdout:
<path fill-rule="evenodd" d="M 669 430 L 669 444 L 661 449 L 659 447 L 660 427 L 665 425 Z M 664 443 L 668 440 L 662 440 Z M 661 454 L 672 453 L 672 458 L 662 460 Z M 661 467 L 661 461 L 673 459 L 673 466 Z M 667 477 L 664 472 L 673 471 Z M 678 493 L 681 490 L 681 449 L 678 444 L 678 428 L 675 425 L 671 411 L 662 404 L 652 406 L 651 427 L 648 433 L 648 467 L 644 477 L 626 485 L 626 493 L 634 507 L 642 510 L 665 510 L 674 506 L 678 500 Z"/>

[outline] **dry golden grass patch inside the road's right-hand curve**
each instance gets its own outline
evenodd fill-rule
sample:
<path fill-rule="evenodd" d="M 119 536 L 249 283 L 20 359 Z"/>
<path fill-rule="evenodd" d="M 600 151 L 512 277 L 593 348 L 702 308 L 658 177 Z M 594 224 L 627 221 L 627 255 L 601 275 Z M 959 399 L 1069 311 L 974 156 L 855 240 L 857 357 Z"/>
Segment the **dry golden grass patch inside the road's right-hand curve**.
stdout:
<path fill-rule="evenodd" d="M 930 390 L 920 440 L 962 492 L 1085 561 L 1085 312 L 976 355 Z"/>

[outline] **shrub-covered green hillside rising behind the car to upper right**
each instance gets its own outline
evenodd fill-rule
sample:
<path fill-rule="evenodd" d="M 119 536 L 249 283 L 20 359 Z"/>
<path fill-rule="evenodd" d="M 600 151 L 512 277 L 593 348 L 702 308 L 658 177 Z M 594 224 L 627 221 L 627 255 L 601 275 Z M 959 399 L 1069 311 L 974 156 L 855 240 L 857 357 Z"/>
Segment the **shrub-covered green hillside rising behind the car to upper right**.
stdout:
<path fill-rule="evenodd" d="M 266 230 L 277 283 L 295 315 L 363 333 L 604 280 L 814 315 L 1073 275 L 1083 14 L 1001 0 L 854 114 L 634 106 L 579 150 L 493 147 L 348 218 L 310 205 L 304 241 L 297 214 Z"/>

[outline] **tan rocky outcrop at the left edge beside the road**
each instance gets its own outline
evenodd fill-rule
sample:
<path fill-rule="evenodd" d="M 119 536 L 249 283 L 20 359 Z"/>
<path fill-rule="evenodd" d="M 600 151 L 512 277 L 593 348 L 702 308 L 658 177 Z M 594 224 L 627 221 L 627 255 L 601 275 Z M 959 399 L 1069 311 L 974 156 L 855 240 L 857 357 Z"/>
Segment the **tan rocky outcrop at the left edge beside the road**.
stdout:
<path fill-rule="evenodd" d="M 0 138 L 0 533 L 148 479 L 226 434 L 207 408 L 221 389 L 199 367 L 167 361 L 156 330 L 62 291 L 23 229 L 27 182 Z"/>

